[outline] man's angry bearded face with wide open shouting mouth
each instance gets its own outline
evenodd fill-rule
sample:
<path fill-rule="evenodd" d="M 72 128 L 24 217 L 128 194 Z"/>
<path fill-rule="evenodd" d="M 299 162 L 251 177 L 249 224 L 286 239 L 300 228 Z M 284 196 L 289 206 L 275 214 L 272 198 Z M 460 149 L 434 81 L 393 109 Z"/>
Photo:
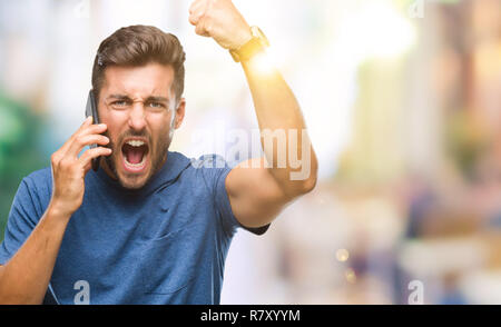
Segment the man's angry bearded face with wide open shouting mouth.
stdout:
<path fill-rule="evenodd" d="M 173 82 L 174 69 L 159 63 L 105 71 L 98 111 L 112 153 L 104 169 L 125 188 L 141 188 L 166 160 L 186 103 L 180 99 L 176 108 Z"/>

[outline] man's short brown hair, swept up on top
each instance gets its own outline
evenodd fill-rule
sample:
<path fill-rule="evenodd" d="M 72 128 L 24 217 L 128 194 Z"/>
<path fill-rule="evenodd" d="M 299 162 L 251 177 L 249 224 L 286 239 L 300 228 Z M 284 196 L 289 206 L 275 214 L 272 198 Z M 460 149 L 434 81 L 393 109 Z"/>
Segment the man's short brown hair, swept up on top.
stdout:
<path fill-rule="evenodd" d="M 186 53 L 176 36 L 151 26 L 121 28 L 99 46 L 92 67 L 92 89 L 96 97 L 102 87 L 105 69 L 109 66 L 138 67 L 150 62 L 174 68 L 174 92 L 179 100 L 185 88 Z"/>

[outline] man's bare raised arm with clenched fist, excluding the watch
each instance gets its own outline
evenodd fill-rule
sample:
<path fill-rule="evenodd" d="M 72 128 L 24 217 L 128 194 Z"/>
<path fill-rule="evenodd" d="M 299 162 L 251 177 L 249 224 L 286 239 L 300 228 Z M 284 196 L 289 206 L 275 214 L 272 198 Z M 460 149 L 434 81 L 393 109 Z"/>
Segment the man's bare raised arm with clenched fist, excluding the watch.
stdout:
<path fill-rule="evenodd" d="M 250 27 L 230 0 L 197 0 L 189 21 L 200 36 L 239 49 Z M 226 178 L 232 210 L 246 227 L 269 224 L 293 199 L 316 184 L 317 160 L 294 93 L 282 75 L 262 68 L 264 54 L 242 62 L 262 132 L 263 158 L 240 162 Z M 230 57 L 228 56 L 230 60 Z"/>

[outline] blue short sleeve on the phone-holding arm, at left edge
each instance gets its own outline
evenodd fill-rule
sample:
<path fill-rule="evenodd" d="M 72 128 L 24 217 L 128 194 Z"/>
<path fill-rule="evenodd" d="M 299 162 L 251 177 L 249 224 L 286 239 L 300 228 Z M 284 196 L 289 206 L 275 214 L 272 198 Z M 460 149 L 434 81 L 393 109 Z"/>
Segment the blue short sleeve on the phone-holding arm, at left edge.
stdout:
<path fill-rule="evenodd" d="M 0 265 L 4 265 L 22 246 L 37 226 L 39 215 L 29 178 L 22 179 L 16 192 L 7 220 L 6 234 L 0 245 Z"/>

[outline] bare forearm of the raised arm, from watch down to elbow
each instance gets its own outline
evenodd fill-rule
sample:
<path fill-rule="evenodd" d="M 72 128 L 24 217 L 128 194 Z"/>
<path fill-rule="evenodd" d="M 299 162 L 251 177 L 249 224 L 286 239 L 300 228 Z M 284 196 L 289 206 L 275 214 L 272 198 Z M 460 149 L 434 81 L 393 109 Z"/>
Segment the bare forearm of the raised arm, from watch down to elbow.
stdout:
<path fill-rule="evenodd" d="M 311 190 L 316 182 L 317 160 L 294 93 L 278 70 L 259 69 L 255 59 L 242 66 L 253 96 L 268 171 L 292 192 Z M 274 146 L 269 135 L 277 138 Z M 308 167 L 299 167 L 305 165 Z"/>

